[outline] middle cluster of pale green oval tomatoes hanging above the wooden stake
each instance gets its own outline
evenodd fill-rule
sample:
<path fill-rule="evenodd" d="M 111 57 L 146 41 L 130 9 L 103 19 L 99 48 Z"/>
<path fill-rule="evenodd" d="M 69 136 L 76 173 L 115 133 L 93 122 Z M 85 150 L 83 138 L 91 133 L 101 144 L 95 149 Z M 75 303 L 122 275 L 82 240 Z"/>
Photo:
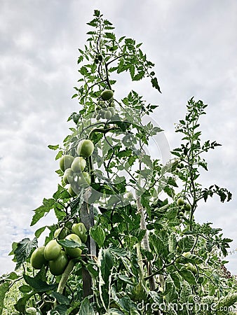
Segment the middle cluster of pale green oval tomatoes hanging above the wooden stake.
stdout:
<path fill-rule="evenodd" d="M 68 192 L 72 197 L 79 194 L 80 188 L 90 185 L 90 174 L 84 172 L 86 168 L 85 158 L 89 158 L 93 154 L 94 144 L 88 139 L 81 140 L 76 151 L 79 155 L 76 158 L 68 154 L 60 158 L 60 169 L 64 172 L 62 180 L 65 184 L 69 184 Z"/>

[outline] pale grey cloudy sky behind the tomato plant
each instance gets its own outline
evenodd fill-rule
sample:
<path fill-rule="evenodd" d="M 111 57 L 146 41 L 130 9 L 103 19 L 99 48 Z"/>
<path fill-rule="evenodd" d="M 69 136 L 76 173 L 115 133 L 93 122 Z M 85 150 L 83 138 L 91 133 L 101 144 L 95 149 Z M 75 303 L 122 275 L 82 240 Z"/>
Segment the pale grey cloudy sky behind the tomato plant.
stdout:
<path fill-rule="evenodd" d="M 156 64 L 163 94 L 146 80 L 133 85 L 128 78 L 116 92 L 125 97 L 134 88 L 160 105 L 152 118 L 170 148 L 180 144 L 174 123 L 184 117 L 187 100 L 194 96 L 209 105 L 203 139 L 222 147 L 205 156 L 210 172 L 202 182 L 228 188 L 233 200 L 213 198 L 196 218 L 233 239 L 227 267 L 237 274 L 236 0 L 0 0 L 0 274 L 15 267 L 8 256 L 13 241 L 55 222 L 50 214 L 29 228 L 32 209 L 57 188 L 55 152 L 47 146 L 61 143 L 69 114 L 79 109 L 71 99 L 78 48 L 94 9 L 114 23 L 118 36 L 143 42 Z"/>

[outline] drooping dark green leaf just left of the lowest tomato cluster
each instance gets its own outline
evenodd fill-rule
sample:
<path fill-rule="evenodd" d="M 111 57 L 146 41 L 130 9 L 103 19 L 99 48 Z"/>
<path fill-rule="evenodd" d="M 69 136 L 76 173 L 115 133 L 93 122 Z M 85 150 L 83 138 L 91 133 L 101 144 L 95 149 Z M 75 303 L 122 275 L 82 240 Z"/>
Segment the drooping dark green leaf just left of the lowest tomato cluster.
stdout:
<path fill-rule="evenodd" d="M 15 269 L 18 269 L 24 262 L 27 260 L 29 257 L 30 253 L 32 252 L 32 249 L 36 248 L 38 244 L 38 241 L 36 237 L 32 239 L 32 241 L 28 238 L 22 239 L 18 243 L 17 248 L 15 248 L 14 254 L 15 254 L 15 259 L 17 261 L 17 265 Z"/>

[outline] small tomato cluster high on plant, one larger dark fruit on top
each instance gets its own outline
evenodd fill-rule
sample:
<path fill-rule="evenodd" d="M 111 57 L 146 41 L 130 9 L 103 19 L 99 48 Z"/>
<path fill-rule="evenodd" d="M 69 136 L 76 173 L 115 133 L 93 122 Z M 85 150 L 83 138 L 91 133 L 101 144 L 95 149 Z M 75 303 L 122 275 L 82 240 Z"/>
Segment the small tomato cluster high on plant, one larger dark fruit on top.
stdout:
<path fill-rule="evenodd" d="M 100 95 L 100 100 L 97 103 L 95 118 L 96 120 L 110 120 L 116 113 L 113 102 L 114 92 L 112 90 L 104 90 Z"/>

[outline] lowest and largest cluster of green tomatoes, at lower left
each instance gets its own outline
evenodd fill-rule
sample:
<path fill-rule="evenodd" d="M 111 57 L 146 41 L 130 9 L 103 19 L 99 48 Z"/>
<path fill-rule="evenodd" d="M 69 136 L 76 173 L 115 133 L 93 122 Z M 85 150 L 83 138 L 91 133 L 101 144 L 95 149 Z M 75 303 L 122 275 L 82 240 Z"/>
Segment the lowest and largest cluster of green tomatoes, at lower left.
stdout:
<path fill-rule="evenodd" d="M 74 241 L 76 247 L 62 247 L 57 240 Z M 83 223 L 74 223 L 71 230 L 67 227 L 55 230 L 54 239 L 51 239 L 46 246 L 36 248 L 30 258 L 34 269 L 41 269 L 43 265 L 49 267 L 51 274 L 59 276 L 63 274 L 70 259 L 81 257 L 81 246 L 86 243 L 86 227 Z"/>

